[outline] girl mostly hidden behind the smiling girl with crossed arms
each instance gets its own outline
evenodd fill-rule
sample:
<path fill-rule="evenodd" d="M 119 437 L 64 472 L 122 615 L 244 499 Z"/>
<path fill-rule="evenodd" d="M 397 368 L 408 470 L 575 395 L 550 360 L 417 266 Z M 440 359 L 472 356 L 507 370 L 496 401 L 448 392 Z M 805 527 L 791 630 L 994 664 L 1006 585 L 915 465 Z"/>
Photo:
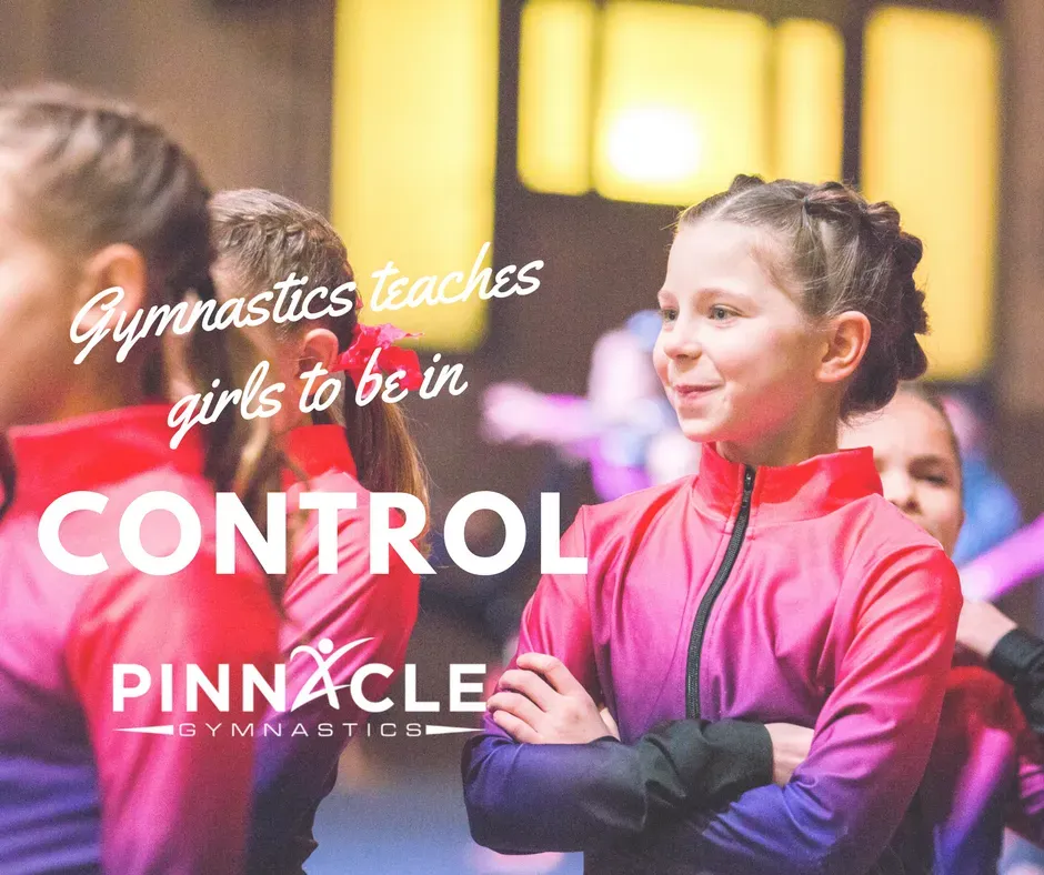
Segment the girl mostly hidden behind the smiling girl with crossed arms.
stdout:
<path fill-rule="evenodd" d="M 884 497 L 954 551 L 964 521 L 962 465 L 934 396 L 904 388 L 881 415 L 844 429 L 841 445 L 871 446 Z M 995 872 L 1005 824 L 1044 841 L 1044 747 L 1012 688 L 963 647 L 917 797 L 933 825 L 936 875 Z"/>

